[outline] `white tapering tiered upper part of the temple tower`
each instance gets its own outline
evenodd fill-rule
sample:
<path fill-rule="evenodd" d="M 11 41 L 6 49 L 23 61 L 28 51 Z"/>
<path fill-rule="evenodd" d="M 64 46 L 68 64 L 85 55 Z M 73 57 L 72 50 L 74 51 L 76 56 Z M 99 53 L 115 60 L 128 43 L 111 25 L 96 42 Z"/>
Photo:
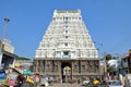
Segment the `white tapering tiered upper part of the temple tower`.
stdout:
<path fill-rule="evenodd" d="M 98 58 L 81 11 L 55 11 L 35 58 Z"/>

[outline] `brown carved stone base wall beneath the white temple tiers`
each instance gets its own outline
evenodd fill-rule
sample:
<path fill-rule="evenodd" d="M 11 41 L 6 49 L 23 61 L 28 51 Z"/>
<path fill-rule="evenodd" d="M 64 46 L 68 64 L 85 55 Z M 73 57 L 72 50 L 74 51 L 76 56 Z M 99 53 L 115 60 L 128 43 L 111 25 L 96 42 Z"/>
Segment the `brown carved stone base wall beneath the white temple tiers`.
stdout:
<path fill-rule="evenodd" d="M 62 63 L 69 63 L 71 70 L 67 75 L 67 82 L 71 80 L 83 80 L 83 78 L 99 78 L 99 60 L 53 60 L 53 59 L 43 59 L 43 60 L 34 60 L 34 73 L 51 76 L 53 77 L 55 82 L 61 82 L 63 79 L 63 69 Z M 64 78 L 66 79 L 66 78 Z"/>

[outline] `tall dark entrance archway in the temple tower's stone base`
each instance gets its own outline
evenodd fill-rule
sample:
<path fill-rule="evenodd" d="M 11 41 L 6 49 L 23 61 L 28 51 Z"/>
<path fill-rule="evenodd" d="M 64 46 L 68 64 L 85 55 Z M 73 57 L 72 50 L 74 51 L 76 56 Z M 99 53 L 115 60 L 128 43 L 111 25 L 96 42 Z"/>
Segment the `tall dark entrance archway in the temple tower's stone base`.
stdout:
<path fill-rule="evenodd" d="M 61 78 L 62 83 L 68 83 L 71 80 L 71 64 L 70 62 L 61 63 Z"/>

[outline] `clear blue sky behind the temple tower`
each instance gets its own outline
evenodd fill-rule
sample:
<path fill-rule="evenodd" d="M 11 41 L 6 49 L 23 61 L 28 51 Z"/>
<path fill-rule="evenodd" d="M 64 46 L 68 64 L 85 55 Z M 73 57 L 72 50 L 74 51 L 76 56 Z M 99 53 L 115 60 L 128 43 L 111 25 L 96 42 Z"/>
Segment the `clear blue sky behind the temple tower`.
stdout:
<path fill-rule="evenodd" d="M 0 0 L 0 38 L 9 17 L 3 37 L 16 55 L 34 59 L 55 10 L 81 10 L 99 54 L 121 55 L 131 49 L 131 0 Z"/>

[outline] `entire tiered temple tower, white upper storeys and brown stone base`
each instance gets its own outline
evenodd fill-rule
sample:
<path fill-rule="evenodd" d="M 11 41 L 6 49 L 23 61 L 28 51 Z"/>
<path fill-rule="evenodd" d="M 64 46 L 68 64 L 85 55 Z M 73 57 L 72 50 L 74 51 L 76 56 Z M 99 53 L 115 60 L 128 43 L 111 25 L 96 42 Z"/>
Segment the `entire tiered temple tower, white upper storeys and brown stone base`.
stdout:
<path fill-rule="evenodd" d="M 81 11 L 55 11 L 36 50 L 34 73 L 56 82 L 99 78 L 98 51 L 83 22 Z"/>

